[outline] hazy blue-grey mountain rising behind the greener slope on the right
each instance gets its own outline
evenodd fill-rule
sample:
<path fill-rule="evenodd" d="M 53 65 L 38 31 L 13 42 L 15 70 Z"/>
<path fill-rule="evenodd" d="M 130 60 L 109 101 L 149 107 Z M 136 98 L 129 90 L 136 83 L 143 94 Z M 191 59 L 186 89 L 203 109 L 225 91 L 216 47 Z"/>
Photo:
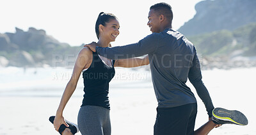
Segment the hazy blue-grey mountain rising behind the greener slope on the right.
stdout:
<path fill-rule="evenodd" d="M 186 36 L 221 29 L 234 30 L 256 22 L 255 0 L 207 0 L 196 4 L 196 15 L 178 31 Z"/>

